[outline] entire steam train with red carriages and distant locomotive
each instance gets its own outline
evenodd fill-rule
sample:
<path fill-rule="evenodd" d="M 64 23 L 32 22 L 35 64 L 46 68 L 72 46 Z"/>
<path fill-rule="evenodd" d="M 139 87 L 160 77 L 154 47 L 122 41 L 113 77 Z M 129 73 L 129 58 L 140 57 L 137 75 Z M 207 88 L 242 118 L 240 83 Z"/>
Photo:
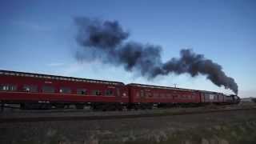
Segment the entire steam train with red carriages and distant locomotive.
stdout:
<path fill-rule="evenodd" d="M 86 78 L 0 70 L 0 102 L 21 109 L 74 106 L 92 110 L 152 109 L 153 107 L 238 104 L 237 95 L 138 83 L 125 85 Z"/>

